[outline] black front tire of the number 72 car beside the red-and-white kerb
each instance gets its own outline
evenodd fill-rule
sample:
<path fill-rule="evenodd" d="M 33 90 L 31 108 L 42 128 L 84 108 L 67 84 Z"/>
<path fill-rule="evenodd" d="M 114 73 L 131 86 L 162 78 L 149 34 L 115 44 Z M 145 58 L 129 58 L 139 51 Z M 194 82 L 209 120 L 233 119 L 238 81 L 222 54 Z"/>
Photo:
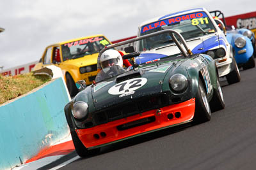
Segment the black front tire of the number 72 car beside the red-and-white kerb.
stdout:
<path fill-rule="evenodd" d="M 70 131 L 74 146 L 76 148 L 76 153 L 79 157 L 88 157 L 90 155 L 95 155 L 100 152 L 100 148 L 95 148 L 93 150 L 88 150 L 83 143 L 78 138 L 76 131 Z"/>

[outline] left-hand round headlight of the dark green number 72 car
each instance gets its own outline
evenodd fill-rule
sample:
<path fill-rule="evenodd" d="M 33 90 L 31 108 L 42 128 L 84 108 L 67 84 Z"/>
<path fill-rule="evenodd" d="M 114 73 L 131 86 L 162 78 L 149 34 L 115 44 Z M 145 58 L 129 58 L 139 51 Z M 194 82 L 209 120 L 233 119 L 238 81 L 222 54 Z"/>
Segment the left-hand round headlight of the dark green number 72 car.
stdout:
<path fill-rule="evenodd" d="M 88 117 L 88 104 L 83 101 L 77 101 L 73 105 L 72 115 L 77 119 Z"/>

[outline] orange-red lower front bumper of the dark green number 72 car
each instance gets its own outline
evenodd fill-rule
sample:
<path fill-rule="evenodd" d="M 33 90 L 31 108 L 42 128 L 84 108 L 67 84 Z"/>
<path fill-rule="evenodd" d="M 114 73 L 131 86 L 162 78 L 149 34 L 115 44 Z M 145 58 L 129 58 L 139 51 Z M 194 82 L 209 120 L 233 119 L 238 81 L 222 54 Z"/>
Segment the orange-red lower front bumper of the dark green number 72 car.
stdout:
<path fill-rule="evenodd" d="M 148 132 L 191 122 L 194 114 L 195 98 L 96 127 L 76 129 L 76 132 L 83 145 L 88 149 L 93 149 Z"/>

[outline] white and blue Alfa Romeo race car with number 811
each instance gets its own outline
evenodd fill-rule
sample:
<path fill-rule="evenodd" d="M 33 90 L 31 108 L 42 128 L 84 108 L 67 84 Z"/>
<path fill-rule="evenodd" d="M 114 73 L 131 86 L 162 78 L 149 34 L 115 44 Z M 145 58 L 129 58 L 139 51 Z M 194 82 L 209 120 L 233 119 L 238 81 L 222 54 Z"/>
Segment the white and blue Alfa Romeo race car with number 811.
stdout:
<path fill-rule="evenodd" d="M 240 81 L 232 46 L 205 8 L 179 11 L 143 22 L 139 26 L 137 36 L 165 29 L 173 29 L 182 34 L 193 53 L 210 55 L 216 61 L 219 76 L 226 76 L 229 84 Z M 169 34 L 143 39 L 137 43 L 136 50 L 141 53 L 134 59 L 137 64 L 154 62 L 170 55 L 176 57 L 180 54 Z M 147 57 L 143 57 L 145 53 Z M 152 53 L 150 60 L 148 53 Z"/>

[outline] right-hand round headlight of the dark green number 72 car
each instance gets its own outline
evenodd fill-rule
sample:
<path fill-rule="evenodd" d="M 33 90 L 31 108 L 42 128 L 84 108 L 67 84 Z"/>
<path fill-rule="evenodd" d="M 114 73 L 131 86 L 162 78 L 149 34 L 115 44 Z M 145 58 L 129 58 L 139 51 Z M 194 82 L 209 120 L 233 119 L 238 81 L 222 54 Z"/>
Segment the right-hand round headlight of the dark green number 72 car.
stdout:
<path fill-rule="evenodd" d="M 169 79 L 169 84 L 175 92 L 184 92 L 188 87 L 188 79 L 183 74 L 174 74 Z"/>

